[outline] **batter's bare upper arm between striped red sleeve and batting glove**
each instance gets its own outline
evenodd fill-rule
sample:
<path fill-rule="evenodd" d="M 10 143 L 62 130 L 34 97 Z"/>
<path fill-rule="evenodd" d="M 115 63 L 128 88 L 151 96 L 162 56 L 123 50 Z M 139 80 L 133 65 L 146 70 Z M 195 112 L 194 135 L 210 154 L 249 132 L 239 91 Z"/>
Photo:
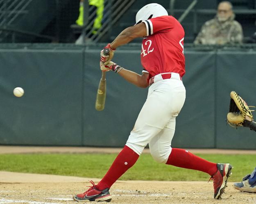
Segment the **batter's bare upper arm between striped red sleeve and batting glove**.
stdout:
<path fill-rule="evenodd" d="M 116 39 L 111 42 L 110 47 L 111 49 L 116 49 L 117 47 L 127 44 L 131 40 L 135 38 L 140 38 L 147 35 L 146 25 L 145 23 L 139 23 L 137 25 L 128 27 L 124 29 Z"/>

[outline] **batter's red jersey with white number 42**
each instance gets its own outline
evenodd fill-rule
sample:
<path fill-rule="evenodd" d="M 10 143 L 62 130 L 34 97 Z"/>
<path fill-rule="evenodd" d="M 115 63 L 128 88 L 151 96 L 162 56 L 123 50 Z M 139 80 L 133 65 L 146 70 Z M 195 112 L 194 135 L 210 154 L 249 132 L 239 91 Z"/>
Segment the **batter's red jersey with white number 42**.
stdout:
<path fill-rule="evenodd" d="M 141 45 L 141 64 L 149 78 L 159 73 L 185 74 L 183 53 L 184 29 L 173 16 L 160 16 L 142 21 L 147 36 Z"/>

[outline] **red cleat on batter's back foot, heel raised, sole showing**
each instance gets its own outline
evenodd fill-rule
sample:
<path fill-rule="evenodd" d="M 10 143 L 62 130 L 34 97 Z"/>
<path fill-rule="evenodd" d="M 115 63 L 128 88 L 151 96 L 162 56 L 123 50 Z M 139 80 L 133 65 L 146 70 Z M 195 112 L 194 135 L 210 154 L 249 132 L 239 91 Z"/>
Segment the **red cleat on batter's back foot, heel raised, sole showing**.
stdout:
<path fill-rule="evenodd" d="M 217 164 L 218 170 L 210 178 L 210 180 L 213 180 L 214 199 L 220 199 L 222 193 L 224 193 L 228 177 L 232 174 L 232 168 L 230 164 Z"/>

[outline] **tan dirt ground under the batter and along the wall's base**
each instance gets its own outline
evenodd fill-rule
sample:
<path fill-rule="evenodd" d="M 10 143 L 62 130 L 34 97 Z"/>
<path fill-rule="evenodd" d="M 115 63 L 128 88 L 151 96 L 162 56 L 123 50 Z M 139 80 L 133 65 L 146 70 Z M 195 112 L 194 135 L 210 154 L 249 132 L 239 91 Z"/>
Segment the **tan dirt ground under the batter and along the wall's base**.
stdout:
<path fill-rule="evenodd" d="M 0 146 L 0 153 L 118 153 L 121 149 L 84 147 Z M 256 151 L 190 150 L 193 153 L 256 154 Z M 144 153 L 148 153 L 145 149 Z M 72 195 L 82 193 L 97 178 L 39 175 L 0 171 L 0 204 L 69 204 Z M 256 193 L 237 191 L 228 183 L 221 200 L 213 199 L 213 182 L 117 181 L 111 188 L 113 204 L 122 203 L 256 203 Z"/>

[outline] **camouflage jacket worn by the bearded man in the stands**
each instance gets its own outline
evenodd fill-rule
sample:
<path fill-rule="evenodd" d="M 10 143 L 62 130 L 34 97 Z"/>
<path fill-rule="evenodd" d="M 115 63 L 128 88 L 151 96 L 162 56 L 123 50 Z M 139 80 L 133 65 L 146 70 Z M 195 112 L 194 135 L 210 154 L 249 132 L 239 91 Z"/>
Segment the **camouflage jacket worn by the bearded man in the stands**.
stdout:
<path fill-rule="evenodd" d="M 227 21 L 220 22 L 217 17 L 202 26 L 194 44 L 237 44 L 242 43 L 242 26 L 234 20 L 233 14 Z"/>

